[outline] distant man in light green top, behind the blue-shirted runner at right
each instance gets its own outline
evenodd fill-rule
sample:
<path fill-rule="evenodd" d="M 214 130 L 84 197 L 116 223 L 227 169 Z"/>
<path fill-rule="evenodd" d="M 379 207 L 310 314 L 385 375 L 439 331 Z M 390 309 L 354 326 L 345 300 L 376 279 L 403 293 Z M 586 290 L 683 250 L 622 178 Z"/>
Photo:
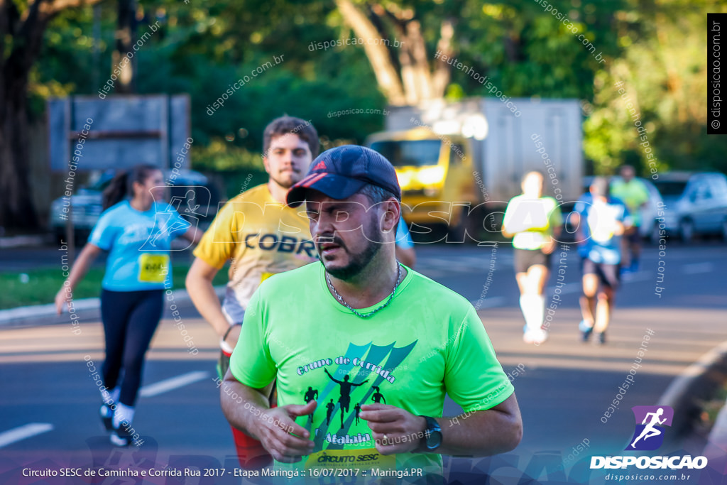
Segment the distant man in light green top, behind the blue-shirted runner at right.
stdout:
<path fill-rule="evenodd" d="M 638 271 L 638 261 L 641 255 L 641 209 L 648 204 L 648 188 L 641 180 L 635 177 L 636 171 L 630 165 L 624 165 L 619 170 L 621 180 L 611 183 L 611 195 L 621 199 L 626 204 L 633 225 L 624 234 L 622 249 L 622 270 L 630 273 Z"/>

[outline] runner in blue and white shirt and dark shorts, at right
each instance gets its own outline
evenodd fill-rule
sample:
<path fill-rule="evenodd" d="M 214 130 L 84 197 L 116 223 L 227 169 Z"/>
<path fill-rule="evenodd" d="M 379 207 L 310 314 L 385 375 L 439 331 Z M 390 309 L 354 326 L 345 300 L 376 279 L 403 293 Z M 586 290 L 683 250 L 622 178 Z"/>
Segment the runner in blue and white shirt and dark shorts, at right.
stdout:
<path fill-rule="evenodd" d="M 584 342 L 595 331 L 603 345 L 620 282 L 621 239 L 631 218 L 624 203 L 609 195 L 608 179 L 595 177 L 590 193 L 581 196 L 574 207 L 572 221 L 579 228 L 578 252 L 583 267 L 583 320 L 579 328 Z"/>

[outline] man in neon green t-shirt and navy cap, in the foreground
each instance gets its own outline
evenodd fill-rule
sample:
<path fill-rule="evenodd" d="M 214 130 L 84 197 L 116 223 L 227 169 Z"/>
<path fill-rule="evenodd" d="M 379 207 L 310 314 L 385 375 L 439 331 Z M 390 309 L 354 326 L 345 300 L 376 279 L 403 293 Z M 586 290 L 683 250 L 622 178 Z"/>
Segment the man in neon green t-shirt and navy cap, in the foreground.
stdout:
<path fill-rule="evenodd" d="M 222 385 L 230 424 L 302 476 L 321 467 L 441 474 L 439 454 L 515 448 L 513 385 L 475 309 L 395 260 L 393 166 L 345 145 L 311 167 L 287 202 L 306 202 L 321 261 L 272 276 L 253 295 Z M 276 376 L 278 407 L 269 409 Z M 318 396 L 305 404 L 308 388 Z M 441 417 L 445 394 L 464 414 Z M 331 401 L 330 414 L 313 413 Z"/>

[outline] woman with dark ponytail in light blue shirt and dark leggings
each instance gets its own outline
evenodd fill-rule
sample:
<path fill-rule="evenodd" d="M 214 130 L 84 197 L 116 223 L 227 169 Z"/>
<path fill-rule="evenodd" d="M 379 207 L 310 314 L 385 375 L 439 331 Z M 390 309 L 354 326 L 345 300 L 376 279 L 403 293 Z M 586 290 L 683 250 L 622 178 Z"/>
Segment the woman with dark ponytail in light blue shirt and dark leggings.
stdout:
<path fill-rule="evenodd" d="M 98 254 L 109 252 L 101 283 L 106 357 L 100 415 L 116 446 L 138 440 L 131 427 L 134 404 L 145 353 L 164 310 L 165 283 L 171 286 L 170 243 L 177 236 L 192 242 L 201 238 L 201 232 L 162 203 L 165 190 L 157 167 L 138 165 L 116 175 L 103 193 L 105 210 L 55 297 L 61 313 Z"/>

